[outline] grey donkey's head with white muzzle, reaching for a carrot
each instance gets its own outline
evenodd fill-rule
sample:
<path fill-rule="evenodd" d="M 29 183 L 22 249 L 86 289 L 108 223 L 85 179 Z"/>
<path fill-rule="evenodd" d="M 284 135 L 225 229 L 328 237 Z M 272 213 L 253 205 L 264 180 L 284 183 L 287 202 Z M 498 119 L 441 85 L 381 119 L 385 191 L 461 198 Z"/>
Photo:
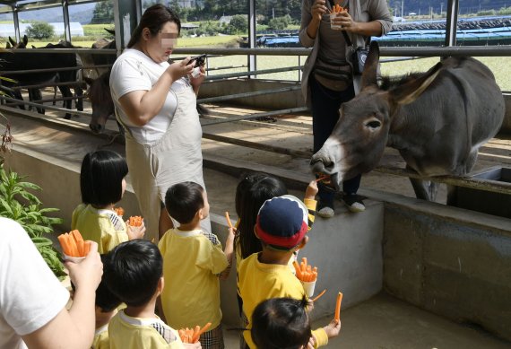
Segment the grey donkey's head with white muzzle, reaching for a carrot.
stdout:
<path fill-rule="evenodd" d="M 379 48 L 371 43 L 361 79 L 361 91 L 343 103 L 340 118 L 323 147 L 312 156 L 311 170 L 319 176 L 330 175 L 327 184 L 340 189 L 342 180 L 374 169 L 381 159 L 394 113 L 400 105 L 411 103 L 437 76 L 439 64 L 419 78 L 410 79 L 389 91 L 377 84 Z"/>

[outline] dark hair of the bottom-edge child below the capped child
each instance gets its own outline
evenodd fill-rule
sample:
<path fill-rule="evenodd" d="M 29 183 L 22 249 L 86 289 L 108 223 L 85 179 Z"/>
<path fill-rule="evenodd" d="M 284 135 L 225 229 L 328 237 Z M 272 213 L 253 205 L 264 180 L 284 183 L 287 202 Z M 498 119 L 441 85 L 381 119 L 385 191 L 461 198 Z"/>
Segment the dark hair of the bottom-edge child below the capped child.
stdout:
<path fill-rule="evenodd" d="M 250 334 L 258 348 L 307 348 L 312 336 L 307 315 L 308 301 L 272 298 L 259 303 L 252 314 Z"/>

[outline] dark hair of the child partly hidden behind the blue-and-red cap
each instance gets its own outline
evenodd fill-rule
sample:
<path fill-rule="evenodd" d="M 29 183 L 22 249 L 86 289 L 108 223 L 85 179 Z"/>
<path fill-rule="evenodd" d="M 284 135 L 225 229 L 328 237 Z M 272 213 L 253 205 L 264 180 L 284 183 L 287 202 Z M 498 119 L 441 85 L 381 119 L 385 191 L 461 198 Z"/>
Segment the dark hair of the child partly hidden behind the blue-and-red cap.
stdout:
<path fill-rule="evenodd" d="M 239 217 L 238 233 L 234 244 L 241 251 L 241 257 L 247 258 L 263 250 L 261 241 L 255 237 L 254 226 L 257 213 L 264 201 L 275 196 L 288 194 L 286 185 L 262 172 L 245 174 L 236 188 L 236 214 Z"/>

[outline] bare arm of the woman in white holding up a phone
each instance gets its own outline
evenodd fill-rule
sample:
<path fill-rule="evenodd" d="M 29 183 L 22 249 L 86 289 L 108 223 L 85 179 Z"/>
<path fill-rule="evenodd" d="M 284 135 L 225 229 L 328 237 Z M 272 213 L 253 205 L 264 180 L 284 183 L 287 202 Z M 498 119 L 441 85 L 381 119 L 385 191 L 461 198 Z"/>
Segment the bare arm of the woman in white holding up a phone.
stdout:
<path fill-rule="evenodd" d="M 189 60 L 187 57 L 169 65 L 151 90 L 128 92 L 119 98 L 122 109 L 134 125 L 143 127 L 160 112 L 172 83 L 192 73 L 194 65 L 188 65 Z"/>

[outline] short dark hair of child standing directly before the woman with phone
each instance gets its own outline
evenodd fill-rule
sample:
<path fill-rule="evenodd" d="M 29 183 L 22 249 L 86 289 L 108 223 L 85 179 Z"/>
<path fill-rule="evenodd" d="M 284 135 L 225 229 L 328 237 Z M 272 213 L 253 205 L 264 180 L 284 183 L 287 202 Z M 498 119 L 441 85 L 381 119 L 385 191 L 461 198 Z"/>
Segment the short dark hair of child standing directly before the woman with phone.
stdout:
<path fill-rule="evenodd" d="M 170 217 L 180 224 L 192 222 L 195 214 L 204 207 L 204 188 L 195 182 L 173 185 L 165 194 L 165 207 Z"/>

